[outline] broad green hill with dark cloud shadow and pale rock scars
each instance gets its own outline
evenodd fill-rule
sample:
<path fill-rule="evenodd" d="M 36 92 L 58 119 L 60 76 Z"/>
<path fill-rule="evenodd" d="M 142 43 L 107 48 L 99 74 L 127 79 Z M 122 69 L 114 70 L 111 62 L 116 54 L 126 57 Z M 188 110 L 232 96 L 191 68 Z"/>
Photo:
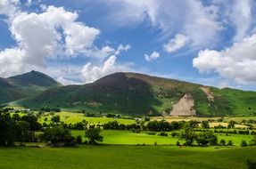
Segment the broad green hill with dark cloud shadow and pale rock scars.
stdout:
<path fill-rule="evenodd" d="M 255 115 L 256 93 L 201 84 L 115 73 L 92 84 L 54 87 L 19 102 L 30 108 L 61 107 L 124 115 Z"/>

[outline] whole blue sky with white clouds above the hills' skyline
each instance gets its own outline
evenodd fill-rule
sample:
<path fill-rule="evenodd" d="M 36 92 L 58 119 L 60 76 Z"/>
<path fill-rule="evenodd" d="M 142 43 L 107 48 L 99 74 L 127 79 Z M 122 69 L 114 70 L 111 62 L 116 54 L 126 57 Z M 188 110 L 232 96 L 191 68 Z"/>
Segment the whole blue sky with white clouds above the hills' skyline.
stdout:
<path fill-rule="evenodd" d="M 0 76 L 119 71 L 256 90 L 253 0 L 0 0 Z"/>

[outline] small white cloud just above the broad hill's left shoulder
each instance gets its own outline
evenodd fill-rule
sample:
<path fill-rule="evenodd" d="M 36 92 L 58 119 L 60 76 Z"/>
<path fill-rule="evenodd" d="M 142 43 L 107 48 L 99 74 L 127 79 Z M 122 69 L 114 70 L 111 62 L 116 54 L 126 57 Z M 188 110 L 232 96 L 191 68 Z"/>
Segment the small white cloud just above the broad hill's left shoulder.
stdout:
<path fill-rule="evenodd" d="M 88 84 L 95 82 L 95 80 L 110 75 L 115 72 L 130 71 L 129 65 L 120 65 L 116 63 L 117 57 L 112 55 L 100 65 L 94 65 L 88 62 L 81 70 L 83 81 Z"/>

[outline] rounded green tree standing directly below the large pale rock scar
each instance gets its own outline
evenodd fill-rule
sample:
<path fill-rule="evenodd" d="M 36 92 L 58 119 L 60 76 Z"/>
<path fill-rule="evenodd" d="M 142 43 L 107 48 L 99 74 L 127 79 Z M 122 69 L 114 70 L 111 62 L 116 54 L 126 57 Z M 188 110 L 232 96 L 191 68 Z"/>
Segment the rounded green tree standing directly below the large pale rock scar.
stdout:
<path fill-rule="evenodd" d="M 196 133 L 194 132 L 194 128 L 190 125 L 186 125 L 179 133 L 179 140 L 185 141 L 185 144 L 188 146 L 192 145 L 195 138 Z"/>

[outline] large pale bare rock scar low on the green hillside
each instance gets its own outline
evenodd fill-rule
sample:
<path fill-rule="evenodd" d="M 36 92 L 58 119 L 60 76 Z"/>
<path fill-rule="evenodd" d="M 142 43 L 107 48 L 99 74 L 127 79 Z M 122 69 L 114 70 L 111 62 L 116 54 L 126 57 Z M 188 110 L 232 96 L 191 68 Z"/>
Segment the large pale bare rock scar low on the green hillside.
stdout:
<path fill-rule="evenodd" d="M 176 105 L 173 105 L 173 109 L 170 113 L 171 116 L 195 116 L 194 99 L 191 94 L 186 93 Z"/>

